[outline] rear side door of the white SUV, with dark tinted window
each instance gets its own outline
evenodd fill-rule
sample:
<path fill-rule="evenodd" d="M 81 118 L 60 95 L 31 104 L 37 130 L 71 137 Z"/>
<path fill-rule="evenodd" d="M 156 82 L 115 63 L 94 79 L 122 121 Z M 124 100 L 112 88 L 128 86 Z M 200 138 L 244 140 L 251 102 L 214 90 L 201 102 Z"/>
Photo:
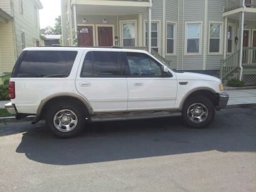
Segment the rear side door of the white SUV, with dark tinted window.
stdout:
<path fill-rule="evenodd" d="M 122 55 L 120 51 L 86 53 L 77 74 L 76 87 L 90 102 L 93 112 L 127 110 L 127 80 Z"/>

